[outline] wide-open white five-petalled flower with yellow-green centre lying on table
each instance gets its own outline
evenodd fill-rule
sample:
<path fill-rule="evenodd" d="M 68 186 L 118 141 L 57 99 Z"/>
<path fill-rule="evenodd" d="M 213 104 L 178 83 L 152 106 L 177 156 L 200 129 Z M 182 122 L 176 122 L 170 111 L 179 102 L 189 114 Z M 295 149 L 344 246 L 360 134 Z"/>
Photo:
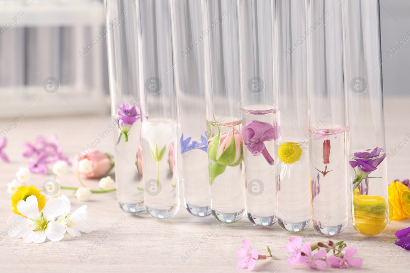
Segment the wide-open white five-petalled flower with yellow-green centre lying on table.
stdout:
<path fill-rule="evenodd" d="M 11 215 L 7 220 L 8 225 L 14 224 L 9 230 L 9 235 L 14 238 L 23 239 L 26 243 L 42 243 L 46 237 L 51 241 L 63 239 L 66 229 L 62 223 L 54 221 L 64 213 L 65 207 L 61 199 L 52 199 L 46 203 L 43 210 L 39 212 L 36 196 L 27 197 L 26 201 L 20 200 L 17 210 L 27 218 L 21 219 L 21 215 Z"/>

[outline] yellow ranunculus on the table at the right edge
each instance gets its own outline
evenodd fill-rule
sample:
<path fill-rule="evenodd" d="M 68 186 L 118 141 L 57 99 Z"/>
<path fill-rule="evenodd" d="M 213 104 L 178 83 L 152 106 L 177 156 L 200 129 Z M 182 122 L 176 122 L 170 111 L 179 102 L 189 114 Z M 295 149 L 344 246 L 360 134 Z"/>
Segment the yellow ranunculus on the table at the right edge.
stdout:
<path fill-rule="evenodd" d="M 410 217 L 410 190 L 399 181 L 389 186 L 389 203 L 392 205 L 392 220 L 403 220 Z"/>

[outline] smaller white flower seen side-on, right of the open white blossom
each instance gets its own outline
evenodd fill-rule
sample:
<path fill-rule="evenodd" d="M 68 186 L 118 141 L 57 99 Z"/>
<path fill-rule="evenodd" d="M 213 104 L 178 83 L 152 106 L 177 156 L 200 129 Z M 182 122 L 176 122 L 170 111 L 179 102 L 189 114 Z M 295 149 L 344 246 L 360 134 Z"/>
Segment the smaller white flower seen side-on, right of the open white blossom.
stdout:
<path fill-rule="evenodd" d="M 73 237 L 80 237 L 80 232 L 89 233 L 93 231 L 93 228 L 87 221 L 87 205 L 82 205 L 70 214 L 71 203 L 70 200 L 68 200 L 68 197 L 63 194 L 58 199 L 61 199 L 64 202 L 64 213 L 57 221 L 64 225 L 69 235 Z"/>

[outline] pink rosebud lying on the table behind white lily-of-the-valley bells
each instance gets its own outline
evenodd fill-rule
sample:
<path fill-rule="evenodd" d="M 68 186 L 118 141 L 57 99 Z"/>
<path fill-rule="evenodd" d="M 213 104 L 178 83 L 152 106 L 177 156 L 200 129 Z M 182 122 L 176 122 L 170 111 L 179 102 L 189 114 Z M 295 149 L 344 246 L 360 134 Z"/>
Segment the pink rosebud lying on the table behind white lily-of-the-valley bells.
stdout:
<path fill-rule="evenodd" d="M 74 159 L 73 159 L 74 174 L 78 173 L 78 164 L 84 158 L 87 158 L 88 160 L 91 160 L 93 162 L 92 171 L 90 171 L 87 174 L 82 173 L 82 175 L 87 178 L 101 177 L 107 174 L 108 171 L 111 170 L 113 167 L 111 158 L 107 156 L 106 153 L 100 152 L 98 150 L 93 150 L 91 151 L 91 153 L 83 157 L 81 157 L 78 154 L 74 156 Z"/>

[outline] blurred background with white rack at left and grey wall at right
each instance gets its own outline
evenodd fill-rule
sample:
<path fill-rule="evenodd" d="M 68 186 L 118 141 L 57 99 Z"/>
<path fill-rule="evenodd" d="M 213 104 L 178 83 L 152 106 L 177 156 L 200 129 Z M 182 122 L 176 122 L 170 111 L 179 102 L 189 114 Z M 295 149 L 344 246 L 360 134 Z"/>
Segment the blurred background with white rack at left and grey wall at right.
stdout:
<path fill-rule="evenodd" d="M 409 13 L 408 0 L 380 0 L 386 97 L 410 95 Z M 0 118 L 27 108 L 109 114 L 103 0 L 0 0 Z"/>

